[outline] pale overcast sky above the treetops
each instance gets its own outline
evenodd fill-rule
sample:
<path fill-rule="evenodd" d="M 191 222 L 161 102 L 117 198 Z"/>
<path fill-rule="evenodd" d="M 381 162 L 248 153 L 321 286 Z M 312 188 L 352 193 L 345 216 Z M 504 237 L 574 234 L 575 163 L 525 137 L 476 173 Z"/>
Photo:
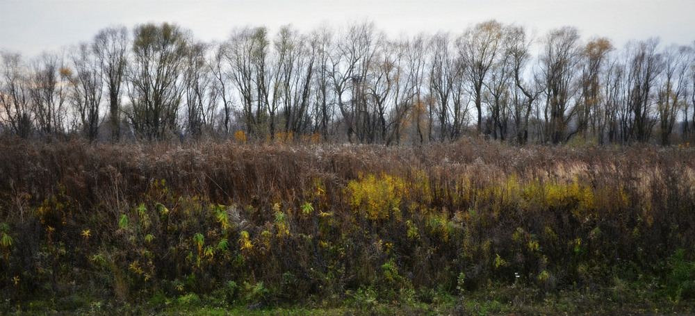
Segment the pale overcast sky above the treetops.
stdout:
<path fill-rule="evenodd" d="M 225 40 L 237 26 L 284 24 L 309 31 L 370 19 L 392 38 L 401 34 L 450 31 L 497 19 L 544 34 L 576 26 L 584 40 L 660 37 L 662 44 L 695 40 L 695 0 L 0 0 L 0 49 L 33 57 L 42 51 L 89 41 L 101 28 L 132 29 L 147 22 L 175 22 L 199 40 Z"/>

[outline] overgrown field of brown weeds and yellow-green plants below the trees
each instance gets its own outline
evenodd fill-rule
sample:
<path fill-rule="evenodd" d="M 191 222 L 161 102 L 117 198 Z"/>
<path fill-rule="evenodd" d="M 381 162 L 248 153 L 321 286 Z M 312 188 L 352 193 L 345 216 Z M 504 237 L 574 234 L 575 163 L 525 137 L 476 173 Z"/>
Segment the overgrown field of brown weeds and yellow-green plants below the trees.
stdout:
<path fill-rule="evenodd" d="M 0 313 L 694 313 L 695 150 L 0 140 Z"/>

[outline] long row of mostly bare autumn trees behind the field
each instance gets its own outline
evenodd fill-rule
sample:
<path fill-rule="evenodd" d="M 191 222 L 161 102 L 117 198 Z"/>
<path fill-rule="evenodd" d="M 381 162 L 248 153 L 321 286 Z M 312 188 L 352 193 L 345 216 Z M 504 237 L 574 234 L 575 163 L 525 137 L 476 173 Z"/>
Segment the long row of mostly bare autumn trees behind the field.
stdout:
<path fill-rule="evenodd" d="M 695 138 L 695 42 L 617 49 L 571 26 L 536 36 L 490 20 L 396 39 L 368 21 L 307 33 L 248 26 L 202 42 L 176 24 L 141 24 L 37 58 L 0 56 L 0 133 L 20 138 Z"/>

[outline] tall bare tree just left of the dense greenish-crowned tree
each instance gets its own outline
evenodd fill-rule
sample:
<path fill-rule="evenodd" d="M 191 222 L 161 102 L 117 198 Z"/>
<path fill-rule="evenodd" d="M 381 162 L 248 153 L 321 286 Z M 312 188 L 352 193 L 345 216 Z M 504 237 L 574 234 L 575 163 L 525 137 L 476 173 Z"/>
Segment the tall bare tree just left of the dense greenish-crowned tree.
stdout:
<path fill-rule="evenodd" d="M 128 60 L 128 30 L 125 26 L 104 28 L 94 37 L 92 44 L 99 63 L 102 81 L 108 95 L 108 122 L 111 140 L 120 138 L 121 89 Z"/>

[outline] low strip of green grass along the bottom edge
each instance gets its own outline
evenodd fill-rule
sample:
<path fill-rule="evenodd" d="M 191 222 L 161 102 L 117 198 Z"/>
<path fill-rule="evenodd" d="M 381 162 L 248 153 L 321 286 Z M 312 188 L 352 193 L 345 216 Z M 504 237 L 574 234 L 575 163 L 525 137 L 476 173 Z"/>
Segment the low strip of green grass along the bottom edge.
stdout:
<path fill-rule="evenodd" d="M 632 290 L 637 290 L 634 288 Z M 88 294 L 63 299 L 32 300 L 5 306 L 3 315 L 687 315 L 695 312 L 691 302 L 632 296 L 617 298 L 610 292 L 566 290 L 539 294 L 523 285 L 493 286 L 486 290 L 452 296 L 441 292 L 411 292 L 384 301 L 370 297 L 368 289 L 346 293 L 343 301 L 307 300 L 302 303 L 268 303 L 259 306 L 223 297 L 183 294 L 155 295 L 140 304 L 99 301 Z"/>

